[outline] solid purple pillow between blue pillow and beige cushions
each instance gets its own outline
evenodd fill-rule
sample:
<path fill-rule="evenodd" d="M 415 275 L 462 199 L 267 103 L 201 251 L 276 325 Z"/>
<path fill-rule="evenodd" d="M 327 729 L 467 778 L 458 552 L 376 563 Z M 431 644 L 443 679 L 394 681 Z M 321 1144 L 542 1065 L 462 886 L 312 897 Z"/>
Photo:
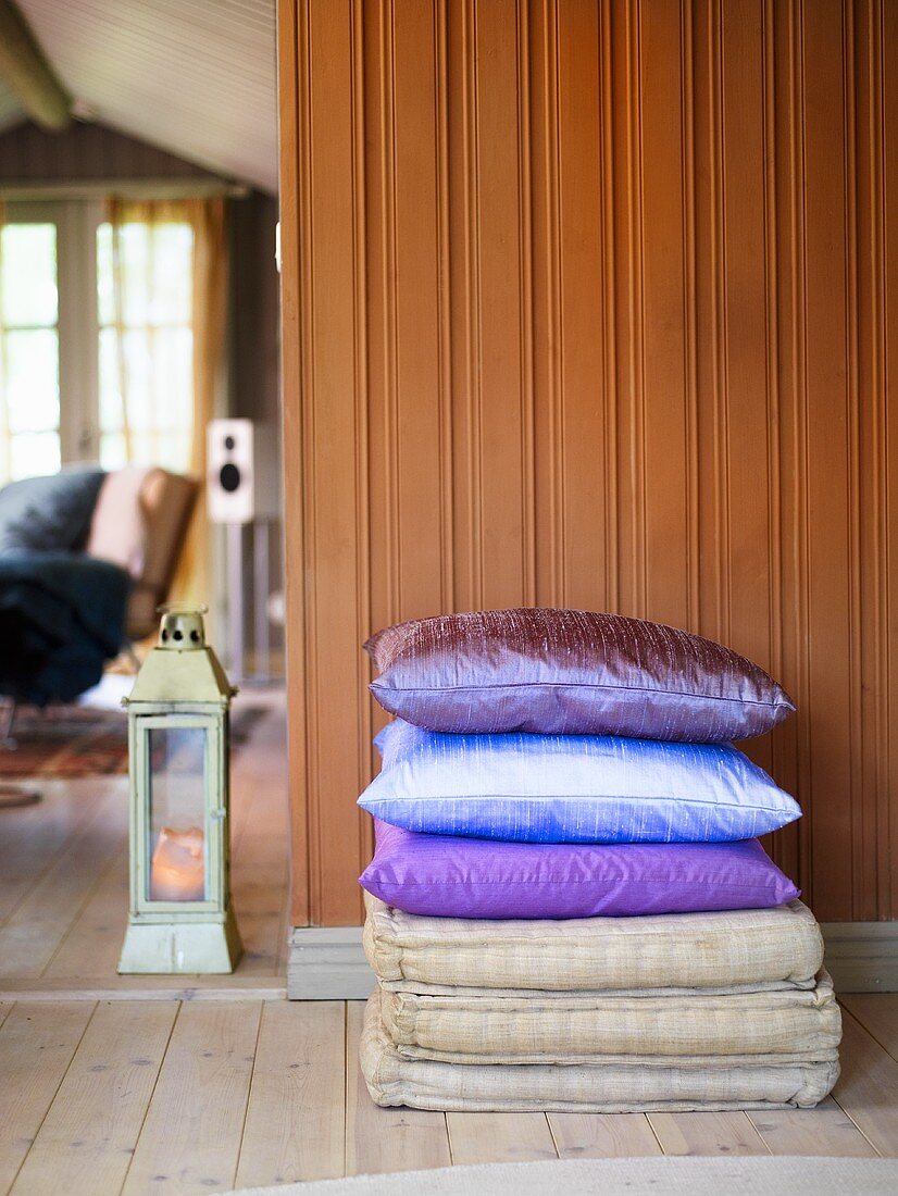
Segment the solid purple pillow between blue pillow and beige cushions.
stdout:
<path fill-rule="evenodd" d="M 734 843 L 501 843 L 374 819 L 369 893 L 436 917 L 593 917 L 782 905 L 799 890 L 756 838 Z"/>

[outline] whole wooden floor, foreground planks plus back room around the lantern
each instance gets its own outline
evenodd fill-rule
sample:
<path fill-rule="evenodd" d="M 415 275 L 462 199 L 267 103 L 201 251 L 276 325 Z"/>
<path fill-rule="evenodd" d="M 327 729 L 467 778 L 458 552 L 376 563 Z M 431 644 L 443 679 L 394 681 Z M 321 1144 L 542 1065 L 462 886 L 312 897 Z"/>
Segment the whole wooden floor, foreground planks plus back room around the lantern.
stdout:
<path fill-rule="evenodd" d="M 815 1110 L 435 1113 L 377 1109 L 362 1002 L 288 1002 L 281 695 L 250 691 L 233 767 L 233 976 L 120 977 L 123 776 L 41 780 L 0 811 L 0 1194 L 230 1191 L 364 1172 L 650 1154 L 898 1157 L 898 994 L 847 996 Z"/>

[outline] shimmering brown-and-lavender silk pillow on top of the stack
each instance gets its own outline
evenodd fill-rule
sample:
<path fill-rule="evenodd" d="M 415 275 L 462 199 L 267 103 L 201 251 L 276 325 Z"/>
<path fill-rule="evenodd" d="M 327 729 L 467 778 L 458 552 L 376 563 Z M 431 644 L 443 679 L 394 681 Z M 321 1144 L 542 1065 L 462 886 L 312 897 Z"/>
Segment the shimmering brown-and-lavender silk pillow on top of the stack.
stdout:
<path fill-rule="evenodd" d="M 662 623 L 521 608 L 398 623 L 365 645 L 384 709 L 430 731 L 727 743 L 794 704 L 757 665 Z"/>

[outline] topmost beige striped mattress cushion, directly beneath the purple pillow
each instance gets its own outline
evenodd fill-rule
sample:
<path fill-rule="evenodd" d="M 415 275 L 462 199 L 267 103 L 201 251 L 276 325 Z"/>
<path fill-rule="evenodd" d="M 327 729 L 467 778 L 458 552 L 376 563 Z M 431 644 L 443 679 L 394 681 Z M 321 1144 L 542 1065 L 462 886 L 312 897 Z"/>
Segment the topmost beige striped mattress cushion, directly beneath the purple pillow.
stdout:
<path fill-rule="evenodd" d="M 568 921 L 404 914 L 366 893 L 365 951 L 386 984 L 639 990 L 811 988 L 823 938 L 801 902 L 775 909 Z"/>

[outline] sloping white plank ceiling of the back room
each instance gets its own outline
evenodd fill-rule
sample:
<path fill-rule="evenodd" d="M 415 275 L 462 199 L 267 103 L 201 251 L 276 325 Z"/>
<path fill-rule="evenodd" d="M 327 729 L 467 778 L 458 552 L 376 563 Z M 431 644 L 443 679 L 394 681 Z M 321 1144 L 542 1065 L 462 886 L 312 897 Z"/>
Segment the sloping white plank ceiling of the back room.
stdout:
<path fill-rule="evenodd" d="M 275 0 L 19 0 L 19 8 L 92 118 L 277 190 Z M 18 118 L 0 85 L 0 129 Z"/>

